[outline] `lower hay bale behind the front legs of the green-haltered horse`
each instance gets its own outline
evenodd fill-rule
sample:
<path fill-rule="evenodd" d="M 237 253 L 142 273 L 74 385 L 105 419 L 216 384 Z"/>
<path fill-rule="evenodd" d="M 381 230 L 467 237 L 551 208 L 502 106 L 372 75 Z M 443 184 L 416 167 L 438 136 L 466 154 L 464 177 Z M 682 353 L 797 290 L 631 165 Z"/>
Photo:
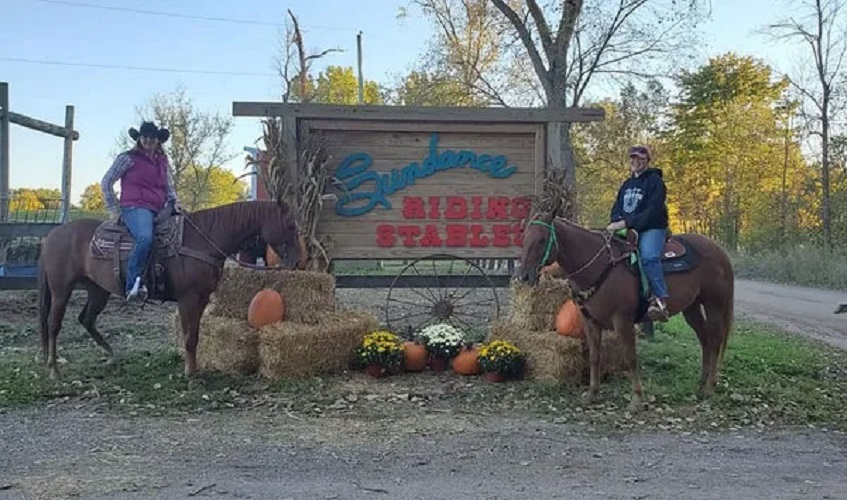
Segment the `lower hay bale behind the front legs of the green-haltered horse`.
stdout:
<path fill-rule="evenodd" d="M 507 340 L 526 353 L 526 378 L 568 384 L 587 384 L 588 343 L 584 338 L 559 335 L 554 330 L 531 331 L 510 321 L 493 323 L 491 340 Z M 604 330 L 600 343 L 600 377 L 626 372 L 620 336 Z"/>

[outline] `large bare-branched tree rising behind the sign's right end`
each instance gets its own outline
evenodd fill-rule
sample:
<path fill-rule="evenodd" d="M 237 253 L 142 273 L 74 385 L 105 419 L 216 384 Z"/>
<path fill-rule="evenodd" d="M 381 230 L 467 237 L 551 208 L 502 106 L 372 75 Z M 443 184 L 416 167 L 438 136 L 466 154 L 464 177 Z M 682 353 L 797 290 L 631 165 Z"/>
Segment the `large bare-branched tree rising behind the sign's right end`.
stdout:
<path fill-rule="evenodd" d="M 456 74 L 470 75 L 478 81 L 476 87 L 489 89 L 487 94 L 496 94 L 503 104 L 531 96 L 549 108 L 563 109 L 581 105 L 594 82 L 669 73 L 696 50 L 695 27 L 701 19 L 700 7 L 708 1 L 415 3 L 442 35 L 441 50 L 431 50 L 427 57 L 436 57 Z M 519 44 L 514 43 L 516 39 Z M 478 43 L 463 43 L 467 41 Z M 571 126 L 552 124 L 550 134 L 550 167 L 560 170 L 559 176 L 574 192 Z"/>

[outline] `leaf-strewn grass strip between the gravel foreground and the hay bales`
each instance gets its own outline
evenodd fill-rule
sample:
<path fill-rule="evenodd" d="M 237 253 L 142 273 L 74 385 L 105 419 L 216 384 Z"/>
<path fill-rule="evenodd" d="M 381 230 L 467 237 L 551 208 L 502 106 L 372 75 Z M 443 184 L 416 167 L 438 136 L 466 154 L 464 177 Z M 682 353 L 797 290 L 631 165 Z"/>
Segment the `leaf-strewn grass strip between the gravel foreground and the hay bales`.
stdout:
<path fill-rule="evenodd" d="M 71 352 L 58 383 L 46 378 L 32 351 L 0 356 L 0 408 L 69 401 L 165 415 L 270 405 L 368 420 L 439 408 L 478 415 L 532 414 L 588 429 L 820 426 L 847 431 L 847 353 L 749 323 L 737 326 L 717 394 L 709 400 L 694 396 L 700 348 L 681 318 L 658 328 L 653 340 L 642 341 L 639 360 L 647 410 L 638 415 L 624 411 L 630 390 L 626 374 L 604 381 L 604 401 L 589 406 L 580 398 L 585 387 L 535 381 L 491 384 L 452 372 L 380 380 L 360 373 L 280 382 L 215 374 L 186 380 L 181 358 L 167 348 L 130 351 L 113 365 L 103 363 L 94 348 Z M 373 395 L 386 390 L 405 395 L 403 403 L 411 394 L 423 403 L 402 406 L 396 397 Z"/>

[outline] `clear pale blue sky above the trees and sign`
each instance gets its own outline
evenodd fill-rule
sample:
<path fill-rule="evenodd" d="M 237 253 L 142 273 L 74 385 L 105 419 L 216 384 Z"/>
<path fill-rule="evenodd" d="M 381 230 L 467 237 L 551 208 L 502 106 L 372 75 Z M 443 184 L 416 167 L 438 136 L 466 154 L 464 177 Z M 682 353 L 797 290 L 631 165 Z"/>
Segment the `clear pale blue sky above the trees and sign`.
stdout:
<path fill-rule="evenodd" d="M 341 48 L 316 64 L 356 67 L 356 34 L 363 33 L 366 79 L 387 81 L 407 72 L 432 32 L 419 12 L 398 20 L 408 0 L 0 0 L 0 81 L 9 84 L 10 108 L 64 124 L 75 107 L 71 198 L 109 168 L 116 142 L 138 127 L 136 109 L 156 93 L 182 86 L 194 104 L 231 115 L 233 101 L 278 101 L 274 57 L 286 9 L 298 17 L 307 48 Z M 106 7 L 106 8 L 97 8 Z M 785 16 L 785 0 L 712 0 L 704 27 L 702 62 L 727 51 L 752 55 L 776 70 L 790 69 L 783 47 L 753 31 Z M 128 10 L 127 10 L 128 9 Z M 133 12 L 144 10 L 170 15 Z M 224 22 L 218 19 L 228 19 Z M 232 22 L 239 20 L 242 22 Z M 258 118 L 235 118 L 226 167 L 245 172 L 244 146 L 255 146 Z M 10 184 L 59 188 L 62 139 L 13 125 Z"/>

